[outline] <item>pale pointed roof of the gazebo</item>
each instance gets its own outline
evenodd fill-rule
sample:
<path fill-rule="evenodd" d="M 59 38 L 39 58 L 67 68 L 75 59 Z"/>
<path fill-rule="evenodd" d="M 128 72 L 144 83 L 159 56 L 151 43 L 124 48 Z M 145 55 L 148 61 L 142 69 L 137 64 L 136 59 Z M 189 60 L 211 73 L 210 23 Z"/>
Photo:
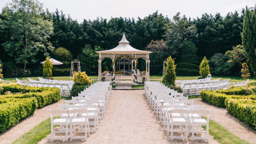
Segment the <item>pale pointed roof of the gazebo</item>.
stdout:
<path fill-rule="evenodd" d="M 106 50 L 106 51 L 97 51 L 96 53 L 99 54 L 150 54 L 152 52 L 148 52 L 148 51 L 141 51 L 141 50 L 137 50 L 134 47 L 132 47 L 130 44 L 130 42 L 127 41 L 124 33 L 123 33 L 123 37 L 121 39 L 121 41 L 119 41 L 119 44 L 111 50 Z"/>

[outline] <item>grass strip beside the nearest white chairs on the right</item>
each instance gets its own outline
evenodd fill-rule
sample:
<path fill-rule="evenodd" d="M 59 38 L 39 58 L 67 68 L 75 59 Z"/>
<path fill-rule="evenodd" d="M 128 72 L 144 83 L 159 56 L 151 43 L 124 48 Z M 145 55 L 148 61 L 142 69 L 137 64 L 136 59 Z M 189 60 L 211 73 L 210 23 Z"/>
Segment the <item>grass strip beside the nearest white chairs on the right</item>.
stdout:
<path fill-rule="evenodd" d="M 206 117 L 204 118 L 206 119 Z M 203 126 L 203 128 L 205 129 L 206 127 Z M 240 137 L 229 132 L 223 126 L 212 121 L 211 119 L 209 122 L 209 134 L 220 143 L 249 143 L 248 141 L 243 140 Z"/>

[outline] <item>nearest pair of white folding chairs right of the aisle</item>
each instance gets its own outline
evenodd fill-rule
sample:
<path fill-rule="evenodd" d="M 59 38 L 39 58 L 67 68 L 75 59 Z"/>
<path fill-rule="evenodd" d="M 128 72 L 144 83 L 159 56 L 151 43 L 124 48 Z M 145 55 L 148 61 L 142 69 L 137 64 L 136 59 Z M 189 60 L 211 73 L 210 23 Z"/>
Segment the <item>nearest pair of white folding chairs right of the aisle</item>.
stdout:
<path fill-rule="evenodd" d="M 192 132 L 192 141 L 194 139 L 206 139 L 208 141 L 209 137 L 209 119 L 211 110 L 204 109 L 172 109 L 170 110 L 169 122 L 167 126 L 167 135 L 169 131 L 171 132 L 171 140 L 174 138 L 184 138 L 187 140 L 189 132 Z M 196 115 L 196 116 L 195 116 Z M 202 118 L 202 115 L 207 115 L 207 119 Z M 205 125 L 206 130 L 202 131 L 201 126 Z M 178 129 L 174 129 L 178 126 Z M 185 130 L 182 128 L 185 126 Z M 191 130 L 190 130 L 191 127 Z M 195 130 L 195 127 L 198 129 Z M 184 132 L 184 136 L 174 136 L 174 132 Z M 205 133 L 204 137 L 195 137 L 195 132 Z"/>

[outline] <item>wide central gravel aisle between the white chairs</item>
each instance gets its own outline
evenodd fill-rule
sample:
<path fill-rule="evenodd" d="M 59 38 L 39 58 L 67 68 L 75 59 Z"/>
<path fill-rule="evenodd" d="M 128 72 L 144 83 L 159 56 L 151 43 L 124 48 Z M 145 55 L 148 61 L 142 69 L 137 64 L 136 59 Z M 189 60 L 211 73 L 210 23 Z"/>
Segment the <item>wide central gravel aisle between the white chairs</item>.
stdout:
<path fill-rule="evenodd" d="M 189 137 L 191 139 L 191 136 Z M 211 136 L 209 143 L 218 143 Z M 192 143 L 191 140 L 174 140 L 174 143 Z M 50 135 L 39 143 L 52 143 Z M 170 143 L 156 114 L 147 105 L 144 90 L 113 90 L 106 116 L 96 133 L 87 141 L 70 139 L 68 142 L 54 140 L 53 143 Z M 205 143 L 195 140 L 195 143 Z"/>

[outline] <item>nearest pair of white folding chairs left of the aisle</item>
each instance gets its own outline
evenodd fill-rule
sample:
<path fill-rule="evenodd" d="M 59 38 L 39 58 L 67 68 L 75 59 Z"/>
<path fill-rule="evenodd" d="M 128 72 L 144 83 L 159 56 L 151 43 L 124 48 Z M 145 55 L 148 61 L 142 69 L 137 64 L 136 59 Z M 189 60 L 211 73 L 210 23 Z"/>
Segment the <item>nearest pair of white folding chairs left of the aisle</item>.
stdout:
<path fill-rule="evenodd" d="M 68 133 L 70 132 L 70 141 L 73 139 L 85 139 L 87 140 L 88 133 L 90 136 L 90 127 L 88 119 L 88 110 L 87 109 L 56 109 L 50 111 L 51 119 L 51 141 L 53 139 L 65 139 L 68 141 Z M 68 115 L 67 117 L 54 118 L 54 116 L 61 116 L 63 114 Z M 72 115 L 72 116 L 70 116 Z M 65 126 L 65 129 L 60 131 L 55 131 L 54 126 Z M 77 126 L 77 130 L 75 128 Z M 78 127 L 81 127 L 79 130 Z M 63 127 L 64 128 L 64 127 Z M 55 136 L 56 133 L 65 133 L 65 137 Z M 74 136 L 73 133 L 84 133 L 84 136 Z"/>

